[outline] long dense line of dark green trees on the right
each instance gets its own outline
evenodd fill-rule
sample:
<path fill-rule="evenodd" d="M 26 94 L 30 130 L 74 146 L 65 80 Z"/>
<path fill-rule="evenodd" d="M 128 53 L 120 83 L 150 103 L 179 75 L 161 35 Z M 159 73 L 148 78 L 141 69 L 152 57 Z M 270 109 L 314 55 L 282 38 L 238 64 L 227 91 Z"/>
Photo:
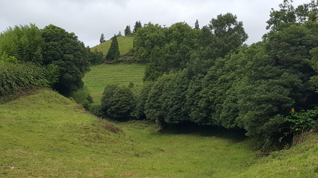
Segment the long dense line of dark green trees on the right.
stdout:
<path fill-rule="evenodd" d="M 201 29 L 198 23 L 195 29 L 185 22 L 145 24 L 133 48 L 134 57 L 149 60 L 143 87 L 116 112 L 125 108 L 125 116 L 162 126 L 192 122 L 244 129 L 264 145 L 312 129 L 318 124 L 318 1 L 294 7 L 284 0 L 267 24 L 263 40 L 250 46 L 244 44 L 243 22 L 231 13 Z M 114 105 L 106 96 L 131 94 L 115 95 L 110 87 L 124 91 L 105 88 L 102 110 L 108 114 Z"/>

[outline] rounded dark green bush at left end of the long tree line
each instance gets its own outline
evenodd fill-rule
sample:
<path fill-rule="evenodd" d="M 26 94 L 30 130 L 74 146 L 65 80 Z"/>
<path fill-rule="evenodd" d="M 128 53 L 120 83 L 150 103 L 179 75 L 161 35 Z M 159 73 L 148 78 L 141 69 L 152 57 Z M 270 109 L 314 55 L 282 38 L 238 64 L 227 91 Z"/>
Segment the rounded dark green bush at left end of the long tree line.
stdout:
<path fill-rule="evenodd" d="M 133 93 L 127 86 L 107 85 L 101 99 L 104 113 L 112 118 L 129 118 L 135 107 Z"/>

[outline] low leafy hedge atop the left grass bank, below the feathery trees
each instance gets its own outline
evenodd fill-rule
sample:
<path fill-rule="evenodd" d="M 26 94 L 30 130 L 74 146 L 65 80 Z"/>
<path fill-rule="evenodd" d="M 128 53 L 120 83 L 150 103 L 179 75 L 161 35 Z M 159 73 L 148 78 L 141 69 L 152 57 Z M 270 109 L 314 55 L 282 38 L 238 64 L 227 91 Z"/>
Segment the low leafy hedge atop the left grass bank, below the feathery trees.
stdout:
<path fill-rule="evenodd" d="M 50 87 L 57 80 L 58 68 L 41 67 L 32 63 L 0 64 L 0 96 L 24 89 Z"/>

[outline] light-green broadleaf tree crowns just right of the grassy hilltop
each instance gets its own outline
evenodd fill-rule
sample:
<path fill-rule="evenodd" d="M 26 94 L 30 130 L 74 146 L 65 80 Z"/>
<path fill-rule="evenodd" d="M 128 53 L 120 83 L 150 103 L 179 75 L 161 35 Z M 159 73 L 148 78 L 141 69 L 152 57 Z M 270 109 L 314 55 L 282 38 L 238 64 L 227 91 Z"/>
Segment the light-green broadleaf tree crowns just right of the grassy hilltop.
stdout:
<path fill-rule="evenodd" d="M 169 28 L 150 22 L 145 24 L 134 40 L 134 56 L 150 61 L 144 81 L 156 81 L 164 72 L 185 68 L 197 38 L 197 32 L 185 22 Z"/>

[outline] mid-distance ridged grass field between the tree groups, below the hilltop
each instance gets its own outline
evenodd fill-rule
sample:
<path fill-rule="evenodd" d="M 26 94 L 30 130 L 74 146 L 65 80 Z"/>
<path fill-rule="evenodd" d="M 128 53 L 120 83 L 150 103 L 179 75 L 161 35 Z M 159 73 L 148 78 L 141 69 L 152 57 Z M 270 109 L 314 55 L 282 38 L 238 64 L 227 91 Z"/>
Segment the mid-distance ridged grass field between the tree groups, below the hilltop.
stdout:
<path fill-rule="evenodd" d="M 92 66 L 91 71 L 83 78 L 88 86 L 94 102 L 99 103 L 107 84 L 126 85 L 133 82 L 135 85 L 142 83 L 145 65 L 141 64 L 101 64 Z"/>

